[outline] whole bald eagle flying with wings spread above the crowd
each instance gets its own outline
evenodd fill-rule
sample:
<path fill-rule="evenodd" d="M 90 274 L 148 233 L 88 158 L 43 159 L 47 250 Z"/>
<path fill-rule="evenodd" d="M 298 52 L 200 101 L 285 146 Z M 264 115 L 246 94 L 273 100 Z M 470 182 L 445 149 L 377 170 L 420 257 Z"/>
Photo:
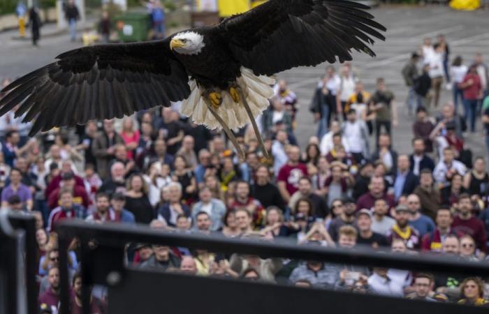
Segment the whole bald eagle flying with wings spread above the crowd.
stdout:
<path fill-rule="evenodd" d="M 183 100 L 197 124 L 222 128 L 238 152 L 232 129 L 251 121 L 273 96 L 272 75 L 296 66 L 351 60 L 351 50 L 374 57 L 367 44 L 386 31 L 342 0 L 270 0 L 213 27 L 164 40 L 83 47 L 20 77 L 3 89 L 0 115 L 34 121 L 29 133 L 112 119 Z M 266 154 L 266 151 L 264 150 Z"/>

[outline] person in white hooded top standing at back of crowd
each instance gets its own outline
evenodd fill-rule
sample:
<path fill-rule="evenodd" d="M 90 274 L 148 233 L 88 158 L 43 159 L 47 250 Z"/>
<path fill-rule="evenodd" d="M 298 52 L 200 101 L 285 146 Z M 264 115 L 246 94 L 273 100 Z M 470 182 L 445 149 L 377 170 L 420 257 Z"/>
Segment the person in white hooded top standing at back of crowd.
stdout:
<path fill-rule="evenodd" d="M 349 144 L 349 153 L 357 163 L 370 157 L 369 134 L 365 121 L 357 118 L 356 111 L 351 108 L 346 112 L 346 121 L 342 125 L 342 134 Z"/>

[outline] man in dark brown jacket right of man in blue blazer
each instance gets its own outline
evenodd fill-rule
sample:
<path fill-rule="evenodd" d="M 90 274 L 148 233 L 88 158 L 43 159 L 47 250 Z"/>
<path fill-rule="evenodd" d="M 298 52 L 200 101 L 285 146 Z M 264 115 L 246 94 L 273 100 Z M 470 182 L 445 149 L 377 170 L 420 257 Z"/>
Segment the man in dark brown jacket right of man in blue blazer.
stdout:
<path fill-rule="evenodd" d="M 426 216 L 435 219 L 437 210 L 440 207 L 441 195 L 439 189 L 433 184 L 433 175 L 431 170 L 421 170 L 420 185 L 414 189 L 414 194 L 418 195 L 421 201 L 421 212 Z"/>

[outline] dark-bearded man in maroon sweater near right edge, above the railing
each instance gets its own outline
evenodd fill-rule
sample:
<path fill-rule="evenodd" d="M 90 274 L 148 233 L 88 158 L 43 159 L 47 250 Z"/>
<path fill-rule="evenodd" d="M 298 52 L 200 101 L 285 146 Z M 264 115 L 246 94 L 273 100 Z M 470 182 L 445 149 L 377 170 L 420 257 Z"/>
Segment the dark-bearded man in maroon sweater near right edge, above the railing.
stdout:
<path fill-rule="evenodd" d="M 481 220 L 472 214 L 472 200 L 468 194 L 462 194 L 458 197 L 458 215 L 453 218 L 452 227 L 456 232 L 469 234 L 476 241 L 479 249 L 478 256 L 483 258 L 487 251 L 486 229 Z"/>

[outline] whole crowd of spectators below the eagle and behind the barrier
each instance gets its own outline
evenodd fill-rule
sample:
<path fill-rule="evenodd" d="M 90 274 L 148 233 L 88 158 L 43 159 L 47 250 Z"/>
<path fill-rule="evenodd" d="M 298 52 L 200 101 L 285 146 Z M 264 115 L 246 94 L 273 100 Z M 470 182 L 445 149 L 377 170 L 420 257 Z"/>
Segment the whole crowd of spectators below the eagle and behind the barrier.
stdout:
<path fill-rule="evenodd" d="M 302 149 L 295 134 L 298 98 L 284 80 L 277 82 L 270 107 L 257 118 L 270 158 L 244 128 L 236 133 L 246 152 L 240 160 L 223 134 L 180 117 L 177 103 L 30 139 L 22 117 L 0 117 L 1 207 L 36 217 L 41 313 L 57 311 L 56 224 L 66 219 L 486 262 L 489 174 L 486 159 L 472 156 L 463 135 L 466 121 L 475 130 L 478 112 L 489 126 L 489 98 L 482 98 L 488 68 L 480 54 L 465 70 L 459 57 L 449 68 L 448 45 L 438 39 L 432 47 L 425 42 L 423 54 L 413 54 L 402 70 L 410 89 L 406 108 L 416 114 L 410 154 L 398 154 L 392 143 L 402 104 L 388 82 L 378 78 L 377 88 L 366 91 L 350 63 L 340 75 L 329 66 L 319 80 L 309 108 L 319 127 Z M 447 87 L 454 102 L 438 112 L 437 93 Z M 80 313 L 78 246 L 73 240 L 68 255 L 73 313 Z M 483 279 L 454 274 L 143 243 L 129 245 L 126 257 L 138 269 L 489 303 Z M 103 290 L 93 294 L 92 313 L 103 313 Z"/>

